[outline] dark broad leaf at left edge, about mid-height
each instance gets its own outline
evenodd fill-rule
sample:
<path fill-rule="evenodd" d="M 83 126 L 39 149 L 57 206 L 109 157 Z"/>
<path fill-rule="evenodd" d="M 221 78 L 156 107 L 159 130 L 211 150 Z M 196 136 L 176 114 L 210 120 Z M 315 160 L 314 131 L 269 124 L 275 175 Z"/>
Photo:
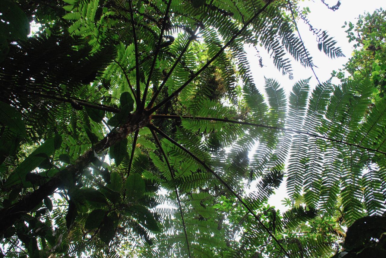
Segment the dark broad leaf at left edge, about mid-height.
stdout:
<path fill-rule="evenodd" d="M 0 101 L 0 124 L 8 126 L 9 129 L 20 137 L 27 137 L 22 115 L 14 107 Z"/>

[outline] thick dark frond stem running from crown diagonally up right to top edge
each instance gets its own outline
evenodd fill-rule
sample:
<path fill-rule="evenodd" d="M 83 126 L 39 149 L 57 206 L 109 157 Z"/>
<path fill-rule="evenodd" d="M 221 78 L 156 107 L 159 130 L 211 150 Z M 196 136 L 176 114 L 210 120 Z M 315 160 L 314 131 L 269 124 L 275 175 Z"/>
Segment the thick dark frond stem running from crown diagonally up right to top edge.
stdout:
<path fill-rule="evenodd" d="M 191 76 L 181 87 L 179 87 L 177 90 L 175 90 L 171 95 L 169 95 L 169 97 L 165 98 L 163 101 L 161 101 L 159 104 L 157 104 L 157 106 L 153 107 L 152 109 L 150 109 L 148 111 L 149 114 L 152 114 L 154 111 L 156 111 L 157 109 L 159 109 L 159 107 L 163 106 L 165 103 L 169 102 L 171 99 L 173 99 L 174 96 L 176 96 L 179 92 L 181 92 L 181 90 L 183 90 L 188 84 L 190 84 L 190 82 L 195 79 L 198 75 L 201 74 L 201 72 L 205 69 L 207 69 L 207 67 L 212 64 L 212 62 L 230 45 L 232 44 L 232 42 L 237 38 L 239 37 L 240 34 L 242 34 L 242 32 L 245 30 L 245 28 L 247 28 L 249 26 L 249 24 L 251 22 L 253 22 L 253 20 L 260 15 L 260 13 L 262 13 L 267 7 L 268 5 L 271 4 L 273 0 L 269 0 L 267 1 L 266 5 L 264 5 L 264 7 L 262 7 L 257 13 L 255 13 L 255 15 L 253 15 L 253 17 L 251 19 L 248 20 L 247 23 L 244 24 L 244 26 L 242 28 L 240 28 L 240 30 L 235 34 L 233 35 L 233 37 L 217 52 L 217 54 L 215 54 L 203 67 L 201 67 L 200 70 L 198 70 L 193 76 Z"/>

